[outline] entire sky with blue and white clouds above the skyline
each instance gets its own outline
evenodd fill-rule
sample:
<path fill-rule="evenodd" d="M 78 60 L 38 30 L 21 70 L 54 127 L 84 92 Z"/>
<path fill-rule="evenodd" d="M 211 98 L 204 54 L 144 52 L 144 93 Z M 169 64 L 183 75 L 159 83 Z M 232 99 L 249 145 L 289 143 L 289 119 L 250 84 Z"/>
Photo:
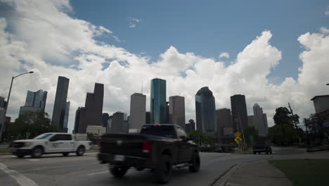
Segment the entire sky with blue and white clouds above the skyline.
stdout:
<path fill-rule="evenodd" d="M 50 117 L 59 75 L 70 79 L 69 130 L 95 82 L 105 85 L 103 112 L 129 113 L 141 92 L 150 108 L 150 80 L 167 80 L 169 96 L 185 97 L 195 119 L 195 94 L 214 93 L 216 108 L 244 94 L 269 125 L 290 102 L 301 118 L 310 99 L 328 94 L 328 1 L 0 0 L 0 96 L 14 80 L 8 116 L 18 117 L 27 90 L 48 93 Z"/>

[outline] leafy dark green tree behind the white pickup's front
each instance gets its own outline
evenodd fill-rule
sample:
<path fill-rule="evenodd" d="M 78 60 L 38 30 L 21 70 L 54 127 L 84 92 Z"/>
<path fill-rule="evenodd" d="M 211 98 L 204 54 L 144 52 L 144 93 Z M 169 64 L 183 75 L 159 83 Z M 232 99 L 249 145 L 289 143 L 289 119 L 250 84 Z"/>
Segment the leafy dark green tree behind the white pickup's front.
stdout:
<path fill-rule="evenodd" d="M 56 126 L 51 125 L 48 113 L 43 111 L 21 114 L 15 123 L 8 125 L 6 137 L 14 139 L 30 139 L 45 132 L 58 132 Z"/>

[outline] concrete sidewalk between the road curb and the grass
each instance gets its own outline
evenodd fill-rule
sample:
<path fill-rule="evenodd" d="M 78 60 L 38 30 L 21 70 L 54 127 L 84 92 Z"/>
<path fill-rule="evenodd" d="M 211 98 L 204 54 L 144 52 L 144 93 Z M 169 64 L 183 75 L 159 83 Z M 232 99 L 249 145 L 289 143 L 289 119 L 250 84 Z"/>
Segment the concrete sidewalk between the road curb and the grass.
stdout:
<path fill-rule="evenodd" d="M 292 186 L 292 182 L 281 171 L 264 160 L 234 166 L 214 183 L 214 186 L 222 185 Z"/>

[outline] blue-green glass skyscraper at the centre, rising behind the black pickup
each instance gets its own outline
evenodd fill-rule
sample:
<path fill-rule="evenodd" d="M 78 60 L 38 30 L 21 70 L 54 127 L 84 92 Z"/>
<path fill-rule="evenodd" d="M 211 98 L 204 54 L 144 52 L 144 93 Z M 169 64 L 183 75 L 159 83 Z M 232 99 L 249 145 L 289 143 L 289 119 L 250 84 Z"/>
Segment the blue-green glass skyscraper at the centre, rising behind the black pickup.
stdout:
<path fill-rule="evenodd" d="M 167 116 L 166 80 L 156 78 L 150 87 L 150 123 L 166 123 Z"/>

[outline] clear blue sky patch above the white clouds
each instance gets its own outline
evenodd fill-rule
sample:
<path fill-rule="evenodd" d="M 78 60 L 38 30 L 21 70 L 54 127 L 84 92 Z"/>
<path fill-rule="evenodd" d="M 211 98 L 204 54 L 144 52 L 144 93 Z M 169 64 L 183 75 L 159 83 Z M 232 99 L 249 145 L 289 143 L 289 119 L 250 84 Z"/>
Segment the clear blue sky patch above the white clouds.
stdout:
<path fill-rule="evenodd" d="M 134 54 L 157 58 L 169 46 L 181 53 L 218 58 L 228 52 L 230 63 L 259 33 L 271 30 L 271 45 L 282 51 L 282 61 L 269 80 L 297 78 L 302 66 L 299 35 L 328 27 L 328 1 L 71 1 L 75 18 L 108 28 L 112 37 L 98 38 Z M 141 20 L 129 27 L 131 19 Z M 146 54 L 145 54 L 146 53 Z"/>

